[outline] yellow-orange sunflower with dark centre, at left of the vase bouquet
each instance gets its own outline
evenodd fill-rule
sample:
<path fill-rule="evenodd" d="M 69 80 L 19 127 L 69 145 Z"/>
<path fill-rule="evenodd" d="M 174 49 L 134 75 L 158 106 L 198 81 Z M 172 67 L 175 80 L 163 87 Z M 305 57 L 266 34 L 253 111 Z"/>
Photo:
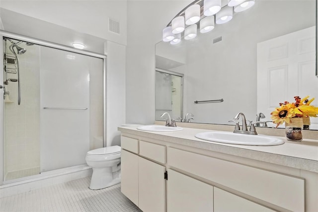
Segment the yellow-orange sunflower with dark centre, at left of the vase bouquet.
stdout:
<path fill-rule="evenodd" d="M 276 127 L 278 127 L 279 124 L 283 124 L 284 122 L 290 123 L 290 118 L 299 114 L 299 111 L 295 111 L 294 104 L 288 103 L 281 105 L 281 107 L 276 107 L 270 114 L 272 115 L 271 119 L 273 119 L 273 122 L 277 124 Z"/>

